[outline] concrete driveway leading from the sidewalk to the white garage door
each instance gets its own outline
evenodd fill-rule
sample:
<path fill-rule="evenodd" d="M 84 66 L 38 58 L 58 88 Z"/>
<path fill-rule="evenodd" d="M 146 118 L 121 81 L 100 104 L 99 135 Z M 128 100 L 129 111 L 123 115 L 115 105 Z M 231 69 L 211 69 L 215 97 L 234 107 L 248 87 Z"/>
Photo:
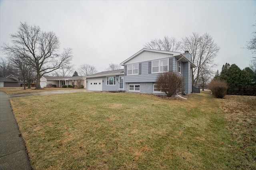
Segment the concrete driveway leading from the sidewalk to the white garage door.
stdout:
<path fill-rule="evenodd" d="M 9 98 L 26 97 L 26 96 L 40 96 L 48 94 L 64 94 L 64 93 L 75 93 L 75 92 L 95 92 L 93 90 L 52 90 L 47 92 L 30 92 L 30 93 L 17 93 L 9 94 Z"/>

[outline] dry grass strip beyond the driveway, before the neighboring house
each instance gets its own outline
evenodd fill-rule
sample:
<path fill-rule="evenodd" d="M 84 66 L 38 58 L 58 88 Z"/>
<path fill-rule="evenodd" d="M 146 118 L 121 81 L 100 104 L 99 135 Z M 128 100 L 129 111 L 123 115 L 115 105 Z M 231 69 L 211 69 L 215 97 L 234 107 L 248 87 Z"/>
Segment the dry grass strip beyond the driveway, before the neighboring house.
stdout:
<path fill-rule="evenodd" d="M 0 91 L 6 92 L 7 94 L 17 94 L 17 93 L 30 93 L 30 92 L 46 92 L 52 90 L 72 90 L 73 88 L 43 88 L 40 90 L 35 90 L 35 87 L 31 87 L 31 89 L 24 87 L 0 87 Z"/>

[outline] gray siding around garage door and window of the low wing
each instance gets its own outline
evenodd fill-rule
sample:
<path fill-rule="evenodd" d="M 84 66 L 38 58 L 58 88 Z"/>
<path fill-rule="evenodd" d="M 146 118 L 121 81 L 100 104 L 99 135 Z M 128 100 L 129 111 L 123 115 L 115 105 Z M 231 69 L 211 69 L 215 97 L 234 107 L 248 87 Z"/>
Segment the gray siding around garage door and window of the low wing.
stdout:
<path fill-rule="evenodd" d="M 116 78 L 118 78 L 118 80 L 116 80 L 116 85 L 106 85 L 107 84 L 106 76 L 94 77 L 94 78 L 86 78 L 86 81 L 88 82 L 89 80 L 102 79 L 103 80 L 103 82 L 102 82 L 102 90 L 103 91 L 120 90 L 119 89 L 119 75 L 117 75 Z M 86 89 L 88 89 L 88 83 L 86 83 Z M 126 87 L 125 87 L 125 83 L 124 83 L 124 90 L 125 89 L 126 89 Z"/>

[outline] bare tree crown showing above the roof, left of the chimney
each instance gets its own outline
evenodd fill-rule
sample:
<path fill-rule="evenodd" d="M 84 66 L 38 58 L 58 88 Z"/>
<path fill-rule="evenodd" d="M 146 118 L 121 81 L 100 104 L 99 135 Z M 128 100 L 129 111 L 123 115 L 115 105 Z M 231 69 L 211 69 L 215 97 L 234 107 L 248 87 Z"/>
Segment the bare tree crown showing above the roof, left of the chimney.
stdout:
<path fill-rule="evenodd" d="M 163 39 L 152 39 L 144 44 L 144 48 L 162 50 L 162 51 L 180 51 L 181 42 L 174 37 L 164 36 Z"/>

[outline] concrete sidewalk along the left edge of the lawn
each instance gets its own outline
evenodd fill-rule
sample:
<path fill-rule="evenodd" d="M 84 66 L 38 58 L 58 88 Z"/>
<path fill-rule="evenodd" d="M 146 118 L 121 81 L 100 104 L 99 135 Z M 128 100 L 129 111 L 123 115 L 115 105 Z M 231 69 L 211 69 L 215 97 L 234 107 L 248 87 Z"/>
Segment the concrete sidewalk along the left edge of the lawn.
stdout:
<path fill-rule="evenodd" d="M 0 170 L 31 170 L 8 94 L 0 92 Z"/>

